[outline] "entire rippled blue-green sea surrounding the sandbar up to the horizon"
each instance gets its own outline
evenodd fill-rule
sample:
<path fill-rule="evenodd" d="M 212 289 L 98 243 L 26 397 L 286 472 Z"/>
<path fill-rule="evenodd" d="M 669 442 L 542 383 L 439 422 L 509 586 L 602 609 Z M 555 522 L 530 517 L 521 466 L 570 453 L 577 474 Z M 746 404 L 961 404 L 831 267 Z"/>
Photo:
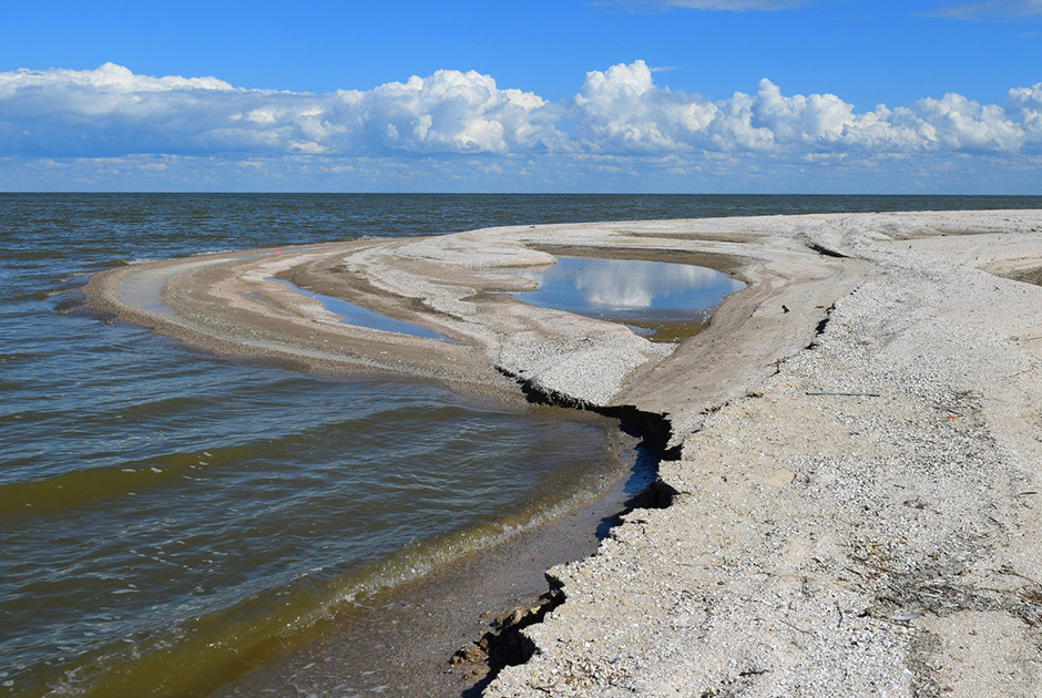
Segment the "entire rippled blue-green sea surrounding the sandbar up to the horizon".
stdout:
<path fill-rule="evenodd" d="M 1042 197 L 0 193 L 0 696 L 202 696 L 632 466 L 607 419 L 205 353 L 91 310 L 170 257 Z"/>

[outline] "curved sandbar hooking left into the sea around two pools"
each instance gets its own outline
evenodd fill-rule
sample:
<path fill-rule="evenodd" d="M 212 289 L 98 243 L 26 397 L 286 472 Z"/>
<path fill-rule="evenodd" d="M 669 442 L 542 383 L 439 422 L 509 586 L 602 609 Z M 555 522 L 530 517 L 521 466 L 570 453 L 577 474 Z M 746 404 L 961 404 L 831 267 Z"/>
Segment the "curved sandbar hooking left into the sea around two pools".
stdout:
<path fill-rule="evenodd" d="M 790 287 L 844 274 L 835 260 L 788 239 L 788 225 L 767 230 L 759 220 L 725 219 L 533 226 L 226 253 L 113 269 L 95 277 L 88 295 L 99 309 L 217 351 L 282 357 L 318 370 L 406 372 L 510 394 L 521 379 L 582 404 L 648 400 L 652 411 L 675 420 L 693 400 L 699 410 L 706 403 L 672 386 L 668 369 L 678 358 L 689 361 L 687 345 L 664 365 L 673 346 L 614 322 L 511 298 L 509 291 L 534 283 L 509 271 L 550 265 L 558 254 L 689 263 L 735 274 L 752 287 L 735 295 L 699 341 L 688 342 L 708 347 L 699 360 L 717 356 L 732 374 L 737 363 L 757 361 L 736 363 L 719 341 L 744 345 L 746 332 L 772 332 L 762 317 L 748 317 L 764 299 L 788 300 L 798 309 L 786 328 L 791 320 L 809 327 L 820 308 L 804 311 Z M 318 300 L 279 283 L 285 280 L 429 327 L 454 343 L 345 325 Z M 830 301 L 831 295 L 826 290 L 813 300 Z M 762 342 L 768 353 L 782 335 L 791 332 Z"/>

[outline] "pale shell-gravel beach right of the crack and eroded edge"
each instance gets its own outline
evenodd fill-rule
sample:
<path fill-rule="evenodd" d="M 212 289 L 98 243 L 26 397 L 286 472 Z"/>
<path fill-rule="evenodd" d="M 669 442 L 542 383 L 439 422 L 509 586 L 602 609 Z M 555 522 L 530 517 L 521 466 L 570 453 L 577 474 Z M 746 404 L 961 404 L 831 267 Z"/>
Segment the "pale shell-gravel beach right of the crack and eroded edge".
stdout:
<path fill-rule="evenodd" d="M 552 569 L 486 695 L 1042 695 L 1042 289 L 966 264 L 1042 265 L 1042 217 L 1003 217 L 799 230 L 862 267 L 820 333 L 701 417 L 671 506 Z"/>

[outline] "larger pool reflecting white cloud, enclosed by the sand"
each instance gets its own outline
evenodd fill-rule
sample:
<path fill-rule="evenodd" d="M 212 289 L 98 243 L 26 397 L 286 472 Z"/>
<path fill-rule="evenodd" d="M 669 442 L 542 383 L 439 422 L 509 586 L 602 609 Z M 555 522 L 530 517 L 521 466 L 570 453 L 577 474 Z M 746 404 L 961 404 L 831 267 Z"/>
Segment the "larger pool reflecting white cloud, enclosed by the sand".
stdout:
<path fill-rule="evenodd" d="M 654 341 L 697 335 L 724 297 L 745 284 L 706 267 L 643 259 L 559 257 L 545 269 L 522 269 L 539 288 L 511 294 L 542 308 L 621 322 Z"/>

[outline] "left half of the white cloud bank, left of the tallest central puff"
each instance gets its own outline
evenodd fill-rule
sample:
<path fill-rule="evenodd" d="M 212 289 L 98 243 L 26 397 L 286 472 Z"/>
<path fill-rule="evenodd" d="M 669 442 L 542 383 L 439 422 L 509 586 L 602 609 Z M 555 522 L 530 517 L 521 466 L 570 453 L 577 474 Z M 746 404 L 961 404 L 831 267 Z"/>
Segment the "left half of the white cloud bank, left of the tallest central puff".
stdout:
<path fill-rule="evenodd" d="M 214 78 L 150 78 L 106 63 L 0 73 L 0 151 L 504 153 L 559 146 L 555 111 L 473 71 L 310 94 L 235 89 Z"/>

